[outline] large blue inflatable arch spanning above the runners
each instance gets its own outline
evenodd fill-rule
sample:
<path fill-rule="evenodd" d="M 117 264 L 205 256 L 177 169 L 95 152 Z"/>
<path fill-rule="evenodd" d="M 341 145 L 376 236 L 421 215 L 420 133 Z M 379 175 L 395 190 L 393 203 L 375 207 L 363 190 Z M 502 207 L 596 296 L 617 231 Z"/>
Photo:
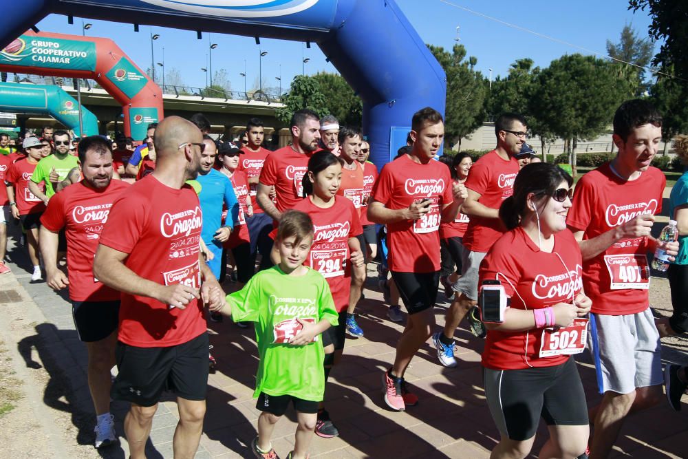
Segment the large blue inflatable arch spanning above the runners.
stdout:
<path fill-rule="evenodd" d="M 405 145 L 391 138 L 414 112 L 444 113 L 444 71 L 394 0 L 22 0 L 6 2 L 3 13 L 12 21 L 0 49 L 50 13 L 317 43 L 363 99 L 378 167 Z"/>

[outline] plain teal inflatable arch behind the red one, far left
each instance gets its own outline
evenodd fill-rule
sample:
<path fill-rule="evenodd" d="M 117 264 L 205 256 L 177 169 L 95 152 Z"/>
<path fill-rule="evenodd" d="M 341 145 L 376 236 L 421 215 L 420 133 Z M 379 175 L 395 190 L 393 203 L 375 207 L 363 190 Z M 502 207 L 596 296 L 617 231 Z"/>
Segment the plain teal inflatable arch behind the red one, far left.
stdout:
<path fill-rule="evenodd" d="M 58 86 L 0 83 L 0 111 L 45 113 L 61 122 L 67 129 L 72 129 L 76 136 L 98 134 L 96 116 L 83 106 L 81 120 L 84 131 L 79 131 L 78 103 Z"/>

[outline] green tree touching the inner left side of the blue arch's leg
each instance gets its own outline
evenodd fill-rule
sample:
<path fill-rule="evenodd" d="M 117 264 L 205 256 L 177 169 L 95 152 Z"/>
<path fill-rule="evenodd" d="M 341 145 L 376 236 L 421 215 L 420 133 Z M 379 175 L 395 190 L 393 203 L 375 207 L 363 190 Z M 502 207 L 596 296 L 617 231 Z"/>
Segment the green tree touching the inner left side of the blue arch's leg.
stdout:
<path fill-rule="evenodd" d="M 314 75 L 320 86 L 320 92 L 325 96 L 327 110 L 345 126 L 363 124 L 363 101 L 356 96 L 354 89 L 338 74 L 319 72 Z"/>

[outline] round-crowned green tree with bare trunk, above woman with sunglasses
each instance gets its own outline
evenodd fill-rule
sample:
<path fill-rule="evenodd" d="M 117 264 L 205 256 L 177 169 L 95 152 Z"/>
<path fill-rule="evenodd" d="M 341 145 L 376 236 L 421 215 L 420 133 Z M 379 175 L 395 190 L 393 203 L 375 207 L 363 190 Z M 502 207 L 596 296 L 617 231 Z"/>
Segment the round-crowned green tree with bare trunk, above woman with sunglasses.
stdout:
<path fill-rule="evenodd" d="M 619 82 L 609 61 L 571 54 L 542 70 L 534 89 L 530 109 L 572 147 L 567 150 L 575 173 L 577 141 L 605 131 L 629 85 Z"/>

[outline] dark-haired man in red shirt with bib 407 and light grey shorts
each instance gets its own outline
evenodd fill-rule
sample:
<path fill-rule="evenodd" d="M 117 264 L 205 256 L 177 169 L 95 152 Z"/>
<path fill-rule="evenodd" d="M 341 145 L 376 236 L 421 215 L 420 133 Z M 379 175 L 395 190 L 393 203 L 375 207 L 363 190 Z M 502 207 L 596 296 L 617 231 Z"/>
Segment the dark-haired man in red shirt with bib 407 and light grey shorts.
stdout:
<path fill-rule="evenodd" d="M 583 175 L 566 220 L 583 253 L 583 289 L 592 299 L 588 341 L 603 394 L 590 409 L 592 459 L 608 456 L 630 412 L 662 398 L 646 256 L 659 245 L 650 231 L 666 185 L 664 174 L 650 166 L 662 140 L 662 116 L 646 100 L 628 100 L 614 114 L 612 139 L 616 158 Z M 677 255 L 678 242 L 661 245 Z"/>

